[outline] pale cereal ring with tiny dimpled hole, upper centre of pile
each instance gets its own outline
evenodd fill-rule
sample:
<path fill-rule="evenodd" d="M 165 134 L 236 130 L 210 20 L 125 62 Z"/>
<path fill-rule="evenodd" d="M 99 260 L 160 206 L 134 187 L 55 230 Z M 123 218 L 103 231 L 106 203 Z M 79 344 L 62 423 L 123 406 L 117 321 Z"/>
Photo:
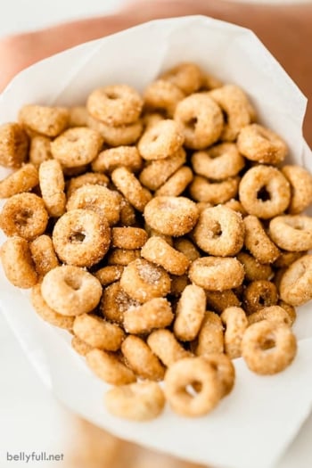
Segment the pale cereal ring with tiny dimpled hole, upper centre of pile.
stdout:
<path fill-rule="evenodd" d="M 137 149 L 144 160 L 163 160 L 184 144 L 183 128 L 175 120 L 160 120 L 144 131 Z"/>

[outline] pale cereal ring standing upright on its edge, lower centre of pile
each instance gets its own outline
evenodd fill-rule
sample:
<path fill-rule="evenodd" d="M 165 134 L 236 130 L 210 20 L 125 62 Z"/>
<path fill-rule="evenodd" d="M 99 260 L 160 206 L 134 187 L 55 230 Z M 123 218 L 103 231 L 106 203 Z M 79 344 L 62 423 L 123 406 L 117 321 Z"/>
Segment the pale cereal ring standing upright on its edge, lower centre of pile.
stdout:
<path fill-rule="evenodd" d="M 205 291 L 195 284 L 186 286 L 177 303 L 176 320 L 173 326 L 174 333 L 179 340 L 192 341 L 196 338 L 201 329 L 205 310 Z"/>

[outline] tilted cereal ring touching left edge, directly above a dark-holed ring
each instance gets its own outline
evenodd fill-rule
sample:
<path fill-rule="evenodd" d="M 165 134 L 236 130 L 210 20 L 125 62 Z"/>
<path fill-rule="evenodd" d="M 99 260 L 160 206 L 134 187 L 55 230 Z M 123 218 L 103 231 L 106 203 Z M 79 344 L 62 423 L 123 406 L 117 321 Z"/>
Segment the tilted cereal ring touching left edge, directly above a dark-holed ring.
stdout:
<path fill-rule="evenodd" d="M 16 193 L 29 192 L 38 185 L 38 171 L 32 164 L 24 164 L 16 172 L 0 181 L 0 198 L 9 198 Z"/>

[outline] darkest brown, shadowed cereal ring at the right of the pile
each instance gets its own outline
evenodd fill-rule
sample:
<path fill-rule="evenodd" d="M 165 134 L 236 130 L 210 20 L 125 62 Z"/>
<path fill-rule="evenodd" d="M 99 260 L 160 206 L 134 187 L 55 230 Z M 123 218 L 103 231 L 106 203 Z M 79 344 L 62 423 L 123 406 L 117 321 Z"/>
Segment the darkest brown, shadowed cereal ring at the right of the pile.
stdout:
<path fill-rule="evenodd" d="M 261 308 L 275 306 L 278 293 L 274 283 L 267 280 L 253 281 L 243 291 L 243 304 L 246 314 L 254 314 Z"/>

